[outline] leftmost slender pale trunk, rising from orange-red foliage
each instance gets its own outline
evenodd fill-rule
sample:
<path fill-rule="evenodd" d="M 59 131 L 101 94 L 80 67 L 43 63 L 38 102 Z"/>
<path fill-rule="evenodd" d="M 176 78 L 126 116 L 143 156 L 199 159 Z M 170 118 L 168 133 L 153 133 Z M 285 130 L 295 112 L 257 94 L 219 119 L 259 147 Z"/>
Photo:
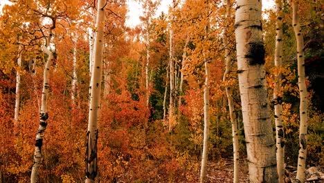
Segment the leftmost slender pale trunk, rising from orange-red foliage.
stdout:
<path fill-rule="evenodd" d="M 15 103 L 15 118 L 14 118 L 14 134 L 19 134 L 19 104 L 20 104 L 20 67 L 21 67 L 21 45 L 19 44 L 19 57 L 17 60 L 18 69 L 16 73 L 16 103 Z"/>

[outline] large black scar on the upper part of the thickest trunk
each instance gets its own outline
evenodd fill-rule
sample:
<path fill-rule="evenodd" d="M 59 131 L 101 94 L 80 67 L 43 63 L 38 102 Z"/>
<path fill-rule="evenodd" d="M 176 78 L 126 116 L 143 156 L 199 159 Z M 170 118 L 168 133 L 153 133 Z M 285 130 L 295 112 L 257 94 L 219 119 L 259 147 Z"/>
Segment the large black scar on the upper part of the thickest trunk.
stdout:
<path fill-rule="evenodd" d="M 262 42 L 252 42 L 246 45 L 247 53 L 245 58 L 250 65 L 264 64 L 264 46 Z"/>

